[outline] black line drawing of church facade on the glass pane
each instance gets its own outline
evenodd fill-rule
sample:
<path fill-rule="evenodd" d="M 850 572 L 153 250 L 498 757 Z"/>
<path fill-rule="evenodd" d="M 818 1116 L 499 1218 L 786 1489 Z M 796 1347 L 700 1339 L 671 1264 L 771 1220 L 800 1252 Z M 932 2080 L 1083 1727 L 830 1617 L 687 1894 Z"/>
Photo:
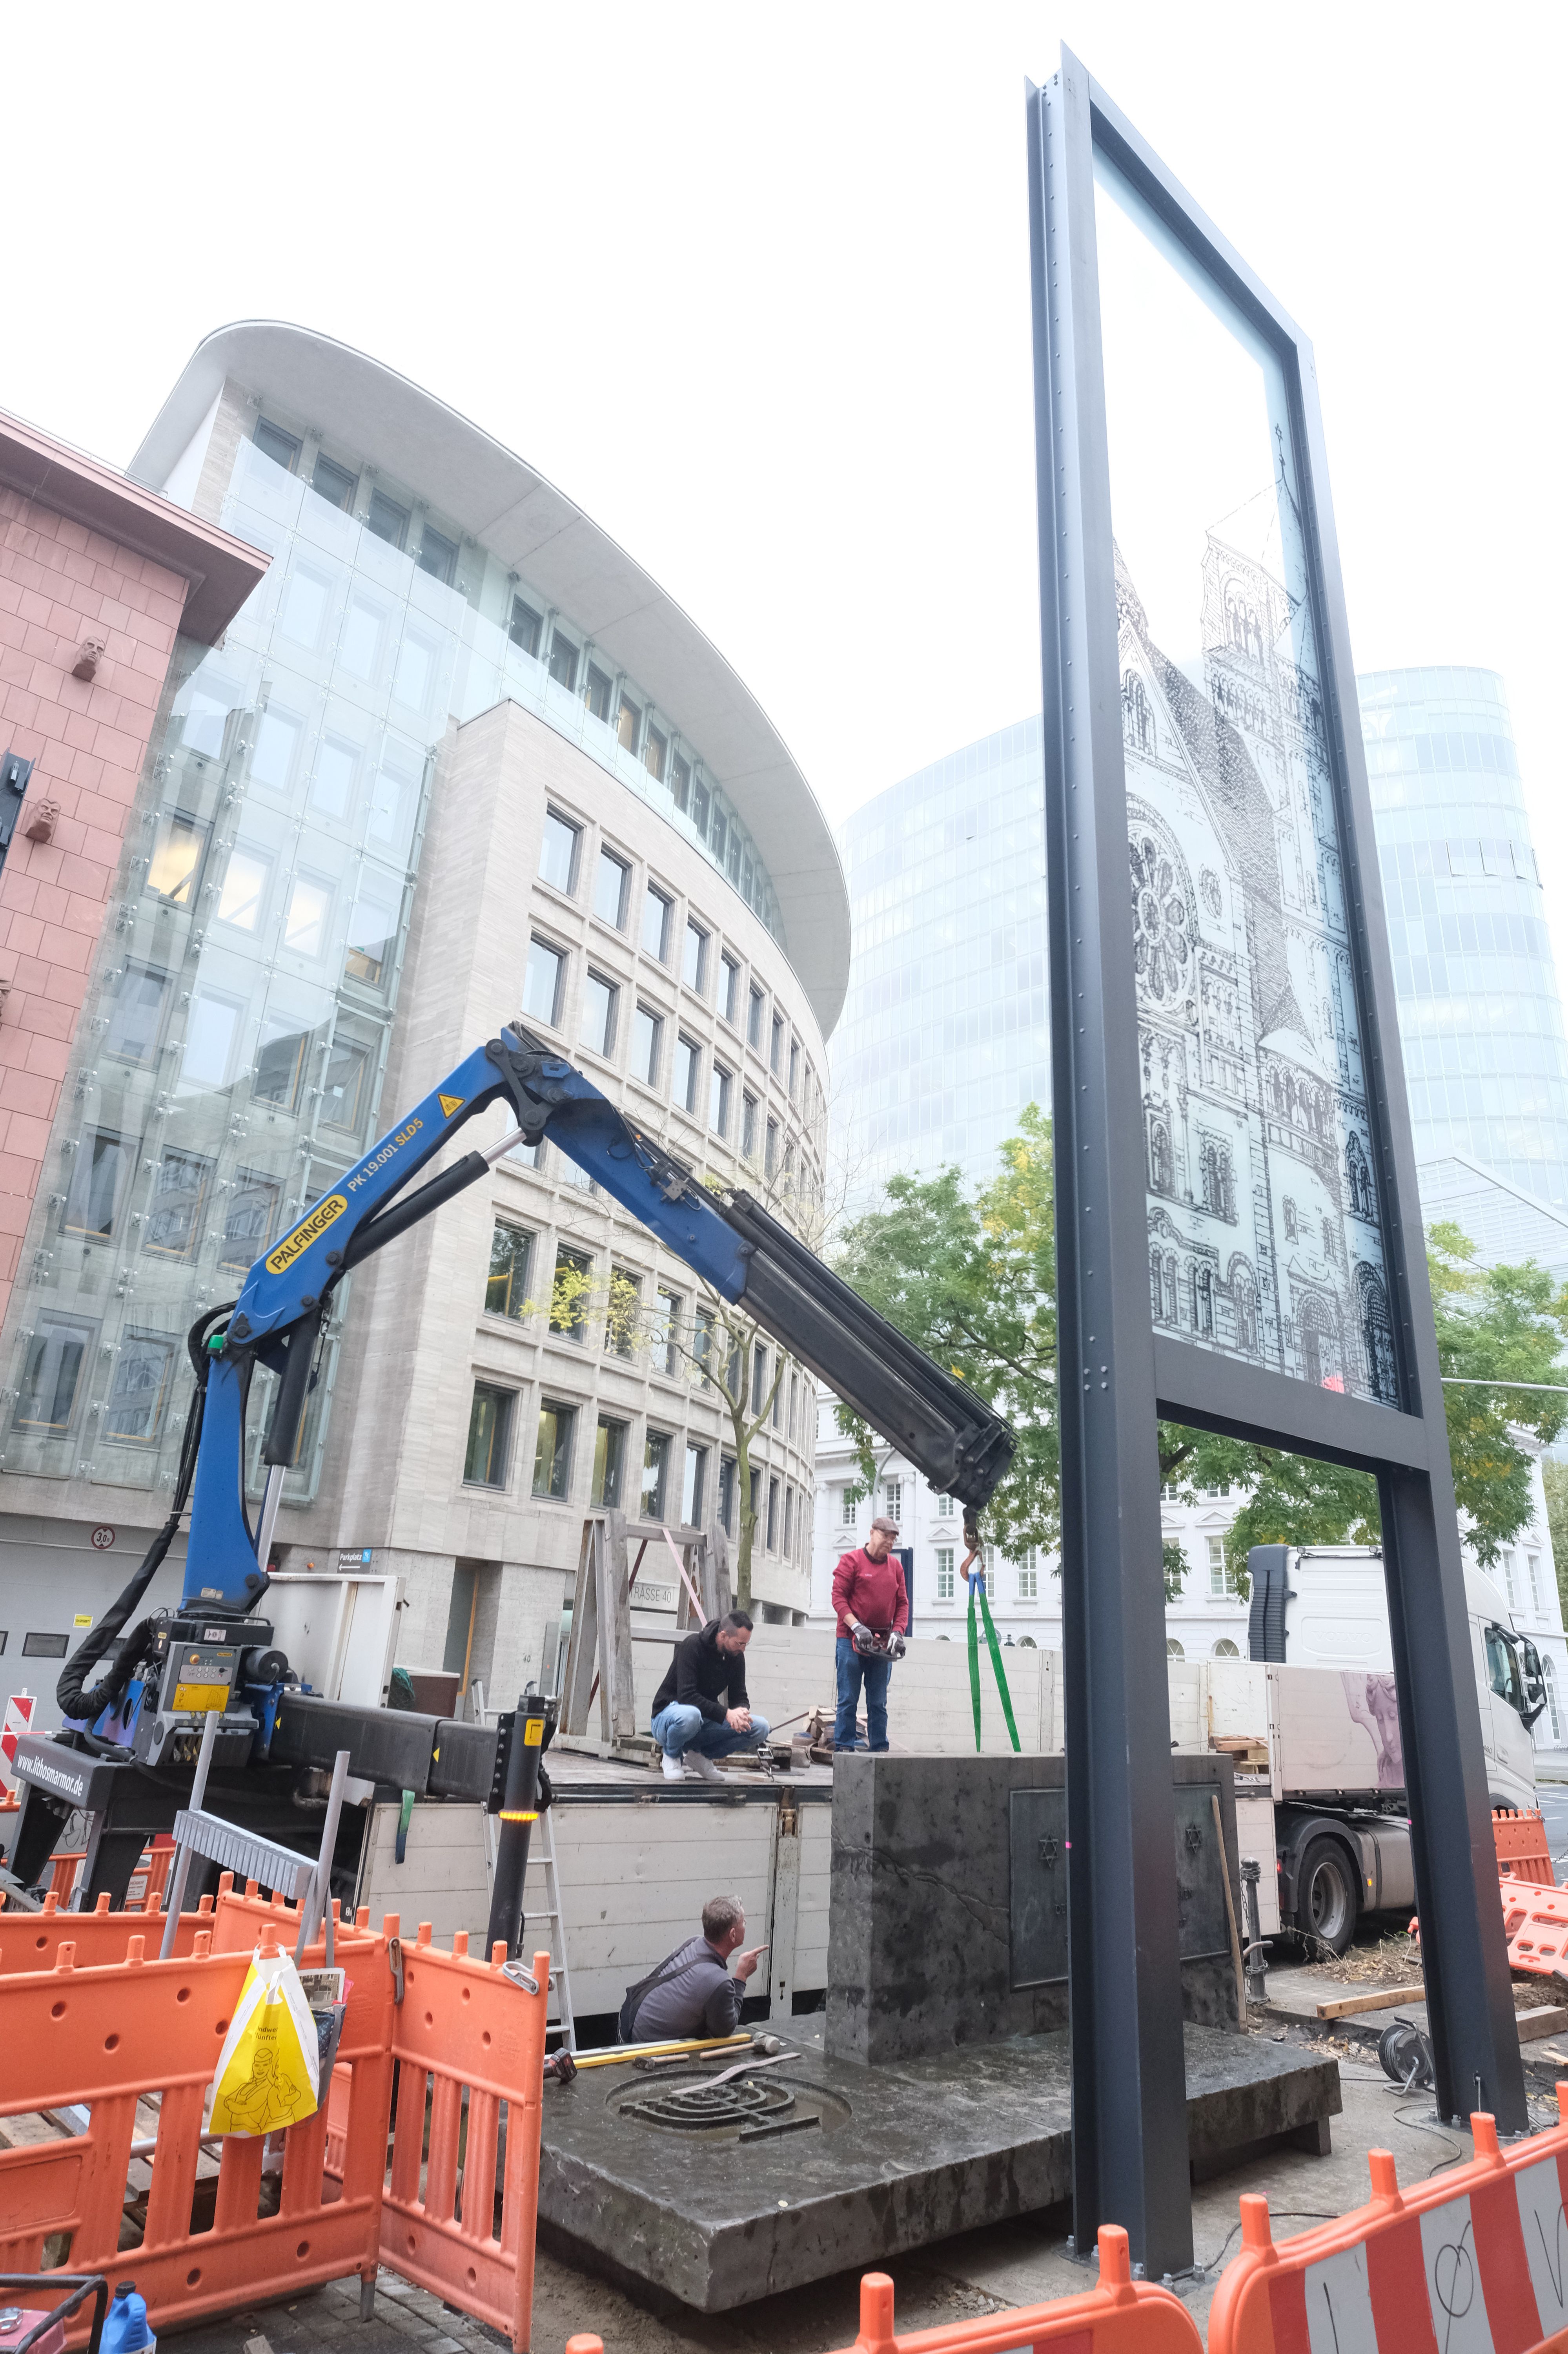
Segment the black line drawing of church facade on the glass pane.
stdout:
<path fill-rule="evenodd" d="M 1398 1403 L 1304 610 L 1210 532 L 1198 687 L 1116 598 L 1154 1325 Z"/>

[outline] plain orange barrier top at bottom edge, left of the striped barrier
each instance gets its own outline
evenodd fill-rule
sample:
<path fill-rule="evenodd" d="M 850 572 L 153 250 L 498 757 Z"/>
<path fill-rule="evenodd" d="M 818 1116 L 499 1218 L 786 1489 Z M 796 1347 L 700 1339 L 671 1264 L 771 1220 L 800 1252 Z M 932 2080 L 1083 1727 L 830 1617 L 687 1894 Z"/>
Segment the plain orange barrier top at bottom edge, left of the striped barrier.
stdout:
<path fill-rule="evenodd" d="M 1203 2354 L 1198 2326 L 1182 2300 L 1132 2279 L 1128 2234 L 1111 2222 L 1099 2225 L 1099 2288 L 904 2338 L 892 2333 L 892 2281 L 885 2272 L 864 2272 L 859 2338 L 843 2354 L 1022 2354 L 1022 2347 L 1050 2345 L 1067 2345 L 1071 2354 Z M 605 2354 L 605 2340 L 567 2338 L 565 2354 Z"/>

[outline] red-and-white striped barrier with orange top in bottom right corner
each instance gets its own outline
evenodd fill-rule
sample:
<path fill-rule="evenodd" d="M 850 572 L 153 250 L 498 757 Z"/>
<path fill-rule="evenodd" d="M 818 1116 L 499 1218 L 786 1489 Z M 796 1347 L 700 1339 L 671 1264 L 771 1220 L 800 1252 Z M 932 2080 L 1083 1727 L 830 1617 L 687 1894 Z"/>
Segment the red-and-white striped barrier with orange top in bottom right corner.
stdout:
<path fill-rule="evenodd" d="M 1208 2354 L 1563 2354 L 1568 2349 L 1568 2083 L 1563 2123 L 1497 2149 L 1471 2116 L 1476 2156 L 1401 2192 L 1387 2149 L 1368 2154 L 1370 2206 L 1274 2246 L 1269 2201 L 1241 2201 L 1241 2255 L 1208 2316 Z"/>

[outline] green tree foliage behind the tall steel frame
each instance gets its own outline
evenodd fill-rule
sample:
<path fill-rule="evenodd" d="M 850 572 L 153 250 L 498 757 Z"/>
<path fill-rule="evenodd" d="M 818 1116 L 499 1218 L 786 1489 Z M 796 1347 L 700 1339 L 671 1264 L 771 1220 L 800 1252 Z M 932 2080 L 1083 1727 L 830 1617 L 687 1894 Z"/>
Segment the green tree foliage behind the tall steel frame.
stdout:
<path fill-rule="evenodd" d="M 881 1210 L 848 1226 L 838 1274 L 921 1349 L 951 1365 L 1017 1431 L 1017 1455 L 986 1507 L 986 1537 L 1017 1558 L 1026 1544 L 1055 1551 L 1062 1530 L 1057 1434 L 1055 1177 L 1050 1123 L 1029 1106 L 1001 1149 L 1001 1170 L 977 1191 L 958 1170 L 895 1177 Z M 1568 1292 L 1535 1264 L 1476 1266 L 1474 1243 L 1453 1224 L 1427 1236 L 1439 1361 L 1469 1382 L 1563 1379 Z M 1490 1565 L 1530 1518 L 1530 1455 L 1511 1431 L 1549 1445 L 1568 1422 L 1552 1391 L 1443 1389 L 1455 1499 L 1476 1556 Z M 873 1438 L 843 1408 L 866 1488 Z M 1161 1481 L 1180 1502 L 1238 1495 L 1227 1572 L 1248 1594 L 1253 1544 L 1377 1544 L 1377 1483 L 1366 1471 L 1217 1438 L 1161 1422 Z M 1568 1577 L 1568 1467 L 1549 1464 L 1563 1535 L 1554 1551 Z M 1552 1488 L 1549 1488 L 1552 1492 Z M 1163 1544 L 1165 1596 L 1187 1572 L 1180 1544 Z M 1566 1584 L 1568 1601 L 1568 1584 Z"/>

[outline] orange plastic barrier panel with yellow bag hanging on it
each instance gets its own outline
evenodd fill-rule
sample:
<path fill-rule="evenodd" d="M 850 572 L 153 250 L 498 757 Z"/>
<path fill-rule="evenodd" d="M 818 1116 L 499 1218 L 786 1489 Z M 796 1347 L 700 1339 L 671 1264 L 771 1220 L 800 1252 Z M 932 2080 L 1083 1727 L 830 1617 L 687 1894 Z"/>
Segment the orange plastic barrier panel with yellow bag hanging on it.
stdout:
<path fill-rule="evenodd" d="M 202 2097 L 252 1944 L 212 1954 L 210 1940 L 202 1926 L 193 1954 L 146 1961 L 151 1940 L 137 1933 L 122 1961 L 82 1970 L 64 1940 L 52 1970 L 0 1977 L 7 2109 L 89 2114 L 87 2130 L 68 2142 L 0 2149 L 0 2269 L 38 2272 L 45 2239 L 64 2232 L 73 2272 L 134 2272 L 155 2330 L 346 2272 L 374 2283 L 381 2255 L 393 2008 L 384 1949 L 377 1966 L 351 1973 L 339 2046 L 351 2086 L 341 2182 L 327 2182 L 327 2112 L 318 2109 L 285 2133 L 275 2215 L 257 2215 L 264 2142 L 231 2137 L 219 2142 L 212 2220 L 193 2220 Z M 275 1944 L 275 1923 L 264 1923 L 261 1942 Z M 381 1940 L 358 1944 L 356 1963 L 367 1947 Z M 320 1959 L 320 1947 L 306 1956 Z M 160 2109 L 146 2227 L 139 2248 L 122 2248 L 129 2144 L 137 2102 L 148 2093 L 160 2095 Z M 85 2340 L 82 2319 L 68 2342 Z"/>

